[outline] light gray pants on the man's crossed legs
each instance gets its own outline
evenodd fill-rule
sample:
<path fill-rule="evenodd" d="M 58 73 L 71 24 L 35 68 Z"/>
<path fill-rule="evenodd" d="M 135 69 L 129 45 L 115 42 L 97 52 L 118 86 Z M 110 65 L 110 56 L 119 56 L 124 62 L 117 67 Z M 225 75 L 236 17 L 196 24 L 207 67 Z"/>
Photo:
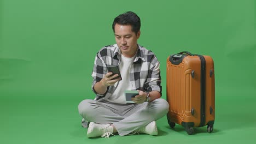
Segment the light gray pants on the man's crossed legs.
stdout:
<path fill-rule="evenodd" d="M 115 104 L 86 99 L 78 105 L 80 115 L 89 122 L 113 124 L 120 136 L 166 115 L 169 105 L 164 99 L 143 104 Z"/>

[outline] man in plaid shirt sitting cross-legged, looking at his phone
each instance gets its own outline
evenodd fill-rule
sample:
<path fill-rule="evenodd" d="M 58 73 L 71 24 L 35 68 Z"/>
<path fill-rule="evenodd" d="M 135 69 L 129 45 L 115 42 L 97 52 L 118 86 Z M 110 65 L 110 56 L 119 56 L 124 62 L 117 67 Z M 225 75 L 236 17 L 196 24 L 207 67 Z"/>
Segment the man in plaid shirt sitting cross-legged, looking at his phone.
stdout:
<path fill-rule="evenodd" d="M 168 112 L 168 103 L 161 99 L 160 63 L 152 51 L 137 44 L 141 20 L 128 11 L 115 17 L 112 28 L 117 44 L 103 47 L 96 55 L 92 72 L 95 100 L 78 105 L 80 115 L 89 123 L 88 137 L 109 137 L 146 133 L 158 135 L 156 120 Z M 118 74 L 107 71 L 107 65 L 118 65 Z M 137 90 L 126 103 L 126 90 Z"/>

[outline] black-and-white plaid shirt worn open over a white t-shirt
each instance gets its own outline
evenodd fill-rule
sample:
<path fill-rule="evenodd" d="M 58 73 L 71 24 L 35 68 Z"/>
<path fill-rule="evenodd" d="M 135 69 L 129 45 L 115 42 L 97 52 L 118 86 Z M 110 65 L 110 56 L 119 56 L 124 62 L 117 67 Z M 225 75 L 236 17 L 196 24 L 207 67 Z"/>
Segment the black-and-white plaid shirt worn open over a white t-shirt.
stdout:
<path fill-rule="evenodd" d="M 137 56 L 130 67 L 132 89 L 127 90 L 158 91 L 161 94 L 160 63 L 152 51 L 140 45 L 138 47 Z M 98 51 L 91 75 L 93 77 L 92 90 L 96 93 L 95 100 L 108 99 L 117 88 L 119 82 L 116 82 L 114 86 L 109 86 L 106 93 L 98 94 L 94 85 L 108 73 L 106 65 L 119 65 L 120 59 L 121 51 L 117 44 L 105 46 Z"/>

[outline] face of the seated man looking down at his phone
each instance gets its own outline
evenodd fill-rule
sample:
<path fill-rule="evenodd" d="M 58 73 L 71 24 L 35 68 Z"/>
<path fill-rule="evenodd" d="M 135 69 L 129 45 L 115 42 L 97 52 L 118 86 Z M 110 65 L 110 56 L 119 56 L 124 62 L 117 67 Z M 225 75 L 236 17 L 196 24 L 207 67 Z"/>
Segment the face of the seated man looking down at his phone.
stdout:
<path fill-rule="evenodd" d="M 125 57 L 133 57 L 137 51 L 137 40 L 141 31 L 132 32 L 131 25 L 115 24 L 115 41 Z"/>

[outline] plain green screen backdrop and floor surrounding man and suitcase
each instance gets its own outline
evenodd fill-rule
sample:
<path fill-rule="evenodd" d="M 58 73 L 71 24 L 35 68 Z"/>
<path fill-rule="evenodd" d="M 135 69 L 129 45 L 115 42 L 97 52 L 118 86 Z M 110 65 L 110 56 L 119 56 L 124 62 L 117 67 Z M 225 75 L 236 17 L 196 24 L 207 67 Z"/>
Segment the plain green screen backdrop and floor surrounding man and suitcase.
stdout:
<path fill-rule="evenodd" d="M 256 113 L 256 2 L 226 1 L 0 1 L 1 143 L 252 143 Z M 189 136 L 166 117 L 159 136 L 86 137 L 77 105 L 93 99 L 96 52 L 114 44 L 112 22 L 125 11 L 141 17 L 138 43 L 161 63 L 166 98 L 166 59 L 190 51 L 214 60 L 214 133 Z"/>

